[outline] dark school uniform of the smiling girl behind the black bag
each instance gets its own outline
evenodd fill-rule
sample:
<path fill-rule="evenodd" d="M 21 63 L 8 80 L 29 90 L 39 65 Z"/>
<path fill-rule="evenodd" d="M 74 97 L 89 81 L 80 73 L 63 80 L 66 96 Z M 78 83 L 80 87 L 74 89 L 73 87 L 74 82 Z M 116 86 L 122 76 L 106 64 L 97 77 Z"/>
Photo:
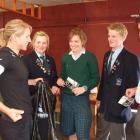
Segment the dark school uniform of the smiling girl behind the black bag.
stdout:
<path fill-rule="evenodd" d="M 23 61 L 29 71 L 29 79 L 43 78 L 44 81 L 46 81 L 51 88 L 52 86 L 56 85 L 56 80 L 57 80 L 56 65 L 52 57 L 45 55 L 43 56 L 44 60 L 42 60 L 41 57 L 42 56 L 40 56 L 37 52 L 33 51 L 32 53 L 23 56 Z M 34 103 L 34 96 L 36 92 L 37 92 L 37 87 L 30 86 L 30 93 L 33 97 L 34 110 L 36 106 L 36 104 Z M 54 102 L 53 103 L 53 110 L 54 110 L 55 102 L 56 102 L 55 96 L 53 102 Z M 40 113 L 43 113 L 41 108 L 38 111 Z M 44 116 L 47 117 L 48 115 L 44 114 Z M 48 121 L 48 117 L 47 118 L 46 117 L 40 118 L 38 120 L 39 133 L 42 140 L 48 140 L 49 121 Z"/>

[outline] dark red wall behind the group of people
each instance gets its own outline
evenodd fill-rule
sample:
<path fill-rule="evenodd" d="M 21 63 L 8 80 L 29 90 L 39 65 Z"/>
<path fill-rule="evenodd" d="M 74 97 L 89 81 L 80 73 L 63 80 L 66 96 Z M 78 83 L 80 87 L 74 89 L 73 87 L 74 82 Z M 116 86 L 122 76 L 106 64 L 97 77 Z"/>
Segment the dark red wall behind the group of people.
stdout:
<path fill-rule="evenodd" d="M 50 50 L 60 72 L 62 55 L 69 50 L 67 36 L 69 31 L 79 26 L 88 36 L 87 49 L 95 53 L 101 71 L 104 52 L 109 49 L 106 27 L 112 21 L 121 21 L 128 27 L 127 48 L 140 55 L 140 39 L 131 14 L 140 14 L 139 0 L 107 0 L 83 4 L 43 7 L 42 20 L 38 21 L 12 12 L 0 13 L 0 27 L 8 20 L 21 18 L 33 26 L 33 33 L 46 31 L 50 36 Z"/>

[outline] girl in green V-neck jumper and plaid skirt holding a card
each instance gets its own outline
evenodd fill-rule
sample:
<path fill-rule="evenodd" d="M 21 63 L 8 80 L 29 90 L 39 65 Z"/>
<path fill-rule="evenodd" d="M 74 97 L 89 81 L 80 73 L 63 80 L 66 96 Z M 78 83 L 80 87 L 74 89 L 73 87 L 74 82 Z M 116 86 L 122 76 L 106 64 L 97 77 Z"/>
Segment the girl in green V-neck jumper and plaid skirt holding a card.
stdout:
<path fill-rule="evenodd" d="M 86 51 L 86 34 L 79 28 L 69 34 L 71 51 L 62 58 L 60 127 L 69 140 L 89 140 L 91 110 L 89 93 L 98 85 L 98 64 L 94 54 Z"/>

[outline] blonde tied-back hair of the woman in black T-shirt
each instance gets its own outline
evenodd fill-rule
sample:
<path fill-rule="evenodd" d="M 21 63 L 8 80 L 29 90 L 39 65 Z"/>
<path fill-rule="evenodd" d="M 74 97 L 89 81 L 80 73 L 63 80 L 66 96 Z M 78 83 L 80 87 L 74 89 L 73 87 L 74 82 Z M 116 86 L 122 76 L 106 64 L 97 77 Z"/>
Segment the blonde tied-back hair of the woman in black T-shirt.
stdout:
<path fill-rule="evenodd" d="M 7 45 L 12 34 L 20 36 L 27 28 L 32 31 L 32 27 L 21 19 L 8 21 L 5 27 L 0 29 L 0 47 L 5 47 Z"/>

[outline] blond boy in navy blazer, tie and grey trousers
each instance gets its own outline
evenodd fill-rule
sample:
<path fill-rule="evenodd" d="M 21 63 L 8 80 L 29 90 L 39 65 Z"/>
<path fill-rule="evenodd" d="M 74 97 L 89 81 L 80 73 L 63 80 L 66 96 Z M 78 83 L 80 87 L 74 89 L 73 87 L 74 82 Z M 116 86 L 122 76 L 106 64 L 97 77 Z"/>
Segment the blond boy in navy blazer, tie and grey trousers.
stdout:
<path fill-rule="evenodd" d="M 122 23 L 108 26 L 110 51 L 104 56 L 103 70 L 97 95 L 99 120 L 96 140 L 125 140 L 126 118 L 124 106 L 118 101 L 122 96 L 132 97 L 138 84 L 137 57 L 124 48 L 128 31 Z M 112 56 L 111 56 L 112 55 Z"/>

